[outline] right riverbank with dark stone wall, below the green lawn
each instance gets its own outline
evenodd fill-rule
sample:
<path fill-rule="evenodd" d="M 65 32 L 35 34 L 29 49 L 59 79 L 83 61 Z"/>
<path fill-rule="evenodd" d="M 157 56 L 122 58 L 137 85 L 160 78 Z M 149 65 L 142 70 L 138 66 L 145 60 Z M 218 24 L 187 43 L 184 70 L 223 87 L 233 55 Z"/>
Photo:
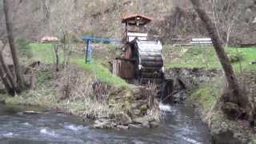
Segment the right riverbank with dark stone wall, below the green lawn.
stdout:
<path fill-rule="evenodd" d="M 244 95 L 255 97 L 255 72 L 238 74 Z M 194 106 L 202 121 L 209 127 L 213 143 L 254 143 L 256 133 L 248 119 L 230 120 L 221 110 L 221 98 L 225 92 L 222 70 L 206 68 L 170 68 L 166 77 L 174 80 L 172 102 Z"/>

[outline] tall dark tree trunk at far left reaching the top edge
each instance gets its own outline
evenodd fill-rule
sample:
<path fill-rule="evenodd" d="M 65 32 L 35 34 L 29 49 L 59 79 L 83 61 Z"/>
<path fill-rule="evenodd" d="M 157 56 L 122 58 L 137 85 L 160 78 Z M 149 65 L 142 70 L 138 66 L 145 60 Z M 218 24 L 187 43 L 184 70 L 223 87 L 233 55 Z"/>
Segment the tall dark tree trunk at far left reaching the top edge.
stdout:
<path fill-rule="evenodd" d="M 19 65 L 18 53 L 14 44 L 13 24 L 10 20 L 11 11 L 9 10 L 9 6 L 10 0 L 3 0 L 4 13 L 6 17 L 6 32 L 9 40 L 10 52 L 14 61 L 14 70 L 17 78 L 18 90 L 24 90 L 26 89 L 26 86 L 24 78 L 22 77 L 21 67 Z"/>

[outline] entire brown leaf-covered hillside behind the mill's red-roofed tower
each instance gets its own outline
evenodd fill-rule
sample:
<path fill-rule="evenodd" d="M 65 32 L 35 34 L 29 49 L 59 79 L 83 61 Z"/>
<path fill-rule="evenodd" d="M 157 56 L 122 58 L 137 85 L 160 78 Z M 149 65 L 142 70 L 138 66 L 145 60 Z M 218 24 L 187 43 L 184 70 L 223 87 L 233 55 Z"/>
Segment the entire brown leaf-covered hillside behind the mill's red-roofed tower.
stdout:
<path fill-rule="evenodd" d="M 38 40 L 45 35 L 59 37 L 60 31 L 71 33 L 74 38 L 82 34 L 102 38 L 122 38 L 123 26 L 120 20 L 124 15 L 134 13 L 142 13 L 154 18 L 154 22 L 148 26 L 150 37 L 160 38 L 162 42 L 171 42 L 170 38 L 207 36 L 188 0 L 12 1 L 15 34 L 19 38 Z M 210 3 L 205 2 L 204 5 L 213 18 Z M 254 0 L 242 1 L 241 10 L 238 11 L 242 13 L 242 17 L 230 34 L 230 41 L 234 44 L 253 43 L 256 35 L 252 23 L 256 13 Z M 4 20 L 2 13 L 0 20 Z M 2 24 L 0 22 L 0 25 Z M 0 29 L 0 35 L 3 31 Z"/>

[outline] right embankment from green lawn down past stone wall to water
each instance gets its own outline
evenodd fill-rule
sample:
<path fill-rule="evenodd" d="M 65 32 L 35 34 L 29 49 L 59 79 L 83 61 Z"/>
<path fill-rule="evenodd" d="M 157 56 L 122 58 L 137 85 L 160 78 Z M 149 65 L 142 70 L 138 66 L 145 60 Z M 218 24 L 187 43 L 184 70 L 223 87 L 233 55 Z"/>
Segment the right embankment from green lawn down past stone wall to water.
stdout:
<path fill-rule="evenodd" d="M 228 48 L 226 52 L 243 87 L 244 97 L 249 98 L 254 106 L 256 65 L 251 62 L 256 60 L 255 48 Z M 183 95 L 174 93 L 174 101 L 186 98 L 188 103 L 198 107 L 202 119 L 210 127 L 213 142 L 255 142 L 255 132 L 248 120 L 230 120 L 220 109 L 219 98 L 225 94 L 226 82 L 213 48 L 166 46 L 165 54 L 166 66 L 178 67 L 166 70 L 166 76 L 174 79 L 174 90 L 189 92 Z"/>

